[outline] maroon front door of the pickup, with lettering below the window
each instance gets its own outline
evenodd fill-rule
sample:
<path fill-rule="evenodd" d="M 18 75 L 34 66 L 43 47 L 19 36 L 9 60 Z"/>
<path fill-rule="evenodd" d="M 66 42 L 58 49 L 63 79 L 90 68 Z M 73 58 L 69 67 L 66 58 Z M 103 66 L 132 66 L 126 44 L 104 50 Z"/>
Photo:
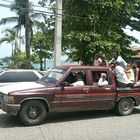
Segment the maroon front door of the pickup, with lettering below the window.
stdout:
<path fill-rule="evenodd" d="M 91 107 L 91 87 L 87 85 L 86 82 L 86 71 L 80 71 L 83 73 L 82 79 L 84 81 L 84 85 L 71 85 L 76 81 L 74 74 L 79 71 L 80 70 L 69 73 L 69 75 L 63 81 L 63 83 L 67 82 L 69 84 L 64 87 L 61 86 L 61 89 L 57 90 L 57 93 L 55 93 L 55 99 L 61 100 L 59 108 L 57 106 L 57 109 L 60 109 L 61 111 L 76 111 L 87 110 Z"/>

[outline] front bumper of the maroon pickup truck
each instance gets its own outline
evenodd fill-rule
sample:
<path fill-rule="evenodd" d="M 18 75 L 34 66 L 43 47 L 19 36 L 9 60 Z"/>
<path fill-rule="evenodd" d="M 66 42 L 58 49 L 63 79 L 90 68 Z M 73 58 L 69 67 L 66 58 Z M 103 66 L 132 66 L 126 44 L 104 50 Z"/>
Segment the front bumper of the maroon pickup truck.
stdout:
<path fill-rule="evenodd" d="M 20 109 L 20 105 L 0 103 L 0 109 L 2 109 L 4 112 L 6 112 L 9 115 L 17 116 L 18 111 Z"/>

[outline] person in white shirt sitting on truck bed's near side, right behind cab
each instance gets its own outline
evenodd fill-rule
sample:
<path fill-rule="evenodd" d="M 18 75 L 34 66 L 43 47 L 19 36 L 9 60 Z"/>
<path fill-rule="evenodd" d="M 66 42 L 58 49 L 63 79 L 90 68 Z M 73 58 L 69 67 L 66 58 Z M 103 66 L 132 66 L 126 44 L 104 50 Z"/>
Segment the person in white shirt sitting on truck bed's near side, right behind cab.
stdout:
<path fill-rule="evenodd" d="M 134 87 L 134 82 L 130 81 L 125 73 L 125 70 L 120 66 L 119 62 L 115 62 L 115 73 L 117 78 L 117 86 Z"/>

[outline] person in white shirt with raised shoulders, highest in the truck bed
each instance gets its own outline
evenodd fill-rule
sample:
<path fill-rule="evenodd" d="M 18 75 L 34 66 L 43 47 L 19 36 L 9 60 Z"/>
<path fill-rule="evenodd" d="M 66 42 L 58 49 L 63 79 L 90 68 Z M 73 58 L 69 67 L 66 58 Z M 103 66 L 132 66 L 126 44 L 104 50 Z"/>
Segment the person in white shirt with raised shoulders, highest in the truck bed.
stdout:
<path fill-rule="evenodd" d="M 113 53 L 113 58 L 108 63 L 111 65 L 115 62 L 119 62 L 120 66 L 122 66 L 124 69 L 127 69 L 127 62 L 117 53 Z"/>

